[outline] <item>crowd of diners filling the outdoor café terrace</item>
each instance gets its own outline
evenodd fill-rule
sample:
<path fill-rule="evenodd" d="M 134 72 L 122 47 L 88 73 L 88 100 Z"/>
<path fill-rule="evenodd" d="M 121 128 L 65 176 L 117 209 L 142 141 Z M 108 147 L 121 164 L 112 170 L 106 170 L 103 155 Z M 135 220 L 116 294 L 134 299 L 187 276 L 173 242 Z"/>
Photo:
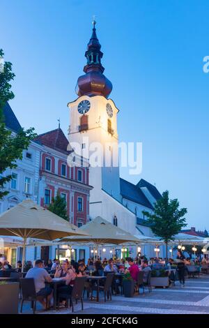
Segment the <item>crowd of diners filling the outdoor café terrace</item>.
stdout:
<path fill-rule="evenodd" d="M 175 259 L 169 258 L 168 260 L 163 258 L 150 258 L 148 260 L 146 256 L 137 256 L 137 258 L 100 258 L 95 256 L 88 259 L 87 264 L 85 264 L 84 259 L 69 261 L 65 259 L 59 261 L 54 258 L 54 260 L 48 260 L 44 262 L 42 260 L 36 260 L 34 263 L 31 261 L 26 261 L 23 267 L 24 273 L 26 273 L 26 278 L 33 278 L 36 288 L 36 295 L 39 297 L 42 306 L 46 306 L 46 299 L 50 302 L 53 297 L 52 290 L 52 277 L 59 278 L 63 282 L 58 287 L 58 298 L 59 294 L 70 294 L 72 292 L 73 285 L 75 283 L 75 278 L 80 276 L 107 276 L 109 273 L 118 274 L 118 276 L 123 277 L 124 274 L 129 274 L 132 280 L 137 283 L 137 276 L 140 271 L 144 271 L 143 281 L 147 283 L 148 276 L 152 270 L 162 270 L 167 271 L 170 281 L 175 280 L 173 278 L 173 271 L 178 273 L 178 279 L 180 285 L 184 287 L 185 285 L 185 270 L 190 265 L 195 264 L 209 264 L 208 255 L 203 257 L 196 256 L 196 258 L 185 257 L 182 251 L 178 250 Z M 7 271 L 12 269 L 10 263 L 7 260 L 0 262 L 0 271 Z M 174 270 L 173 270 L 174 269 Z M 17 272 L 22 271 L 22 262 L 17 262 L 17 267 L 15 269 Z M 85 288 L 87 292 L 91 290 L 92 281 L 86 281 Z M 114 286 L 116 286 L 117 292 L 117 278 L 114 279 Z M 88 294 L 87 294 L 88 295 Z M 65 300 L 61 299 L 61 304 L 59 306 L 65 306 Z"/>

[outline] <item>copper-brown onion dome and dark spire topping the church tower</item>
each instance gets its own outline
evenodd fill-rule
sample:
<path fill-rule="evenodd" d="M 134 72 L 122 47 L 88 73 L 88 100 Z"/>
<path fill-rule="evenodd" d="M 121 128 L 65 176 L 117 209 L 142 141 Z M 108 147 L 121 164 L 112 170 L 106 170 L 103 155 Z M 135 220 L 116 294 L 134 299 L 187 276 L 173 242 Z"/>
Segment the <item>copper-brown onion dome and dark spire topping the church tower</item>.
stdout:
<path fill-rule="evenodd" d="M 101 64 L 103 53 L 100 51 L 101 45 L 96 35 L 95 20 L 93 20 L 93 32 L 88 42 L 85 57 L 87 64 L 84 66 L 85 75 L 77 80 L 76 93 L 78 96 L 104 96 L 108 98 L 111 93 L 112 84 L 104 76 L 104 67 Z"/>

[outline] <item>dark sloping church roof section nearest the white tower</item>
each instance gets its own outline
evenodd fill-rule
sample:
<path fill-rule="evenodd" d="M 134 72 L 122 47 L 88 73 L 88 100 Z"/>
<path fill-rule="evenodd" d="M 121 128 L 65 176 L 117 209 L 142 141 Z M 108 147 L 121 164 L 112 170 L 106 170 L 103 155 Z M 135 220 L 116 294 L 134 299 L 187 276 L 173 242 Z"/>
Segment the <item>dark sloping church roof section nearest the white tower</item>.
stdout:
<path fill-rule="evenodd" d="M 120 178 L 121 184 L 121 195 L 126 198 L 127 200 L 131 200 L 132 202 L 137 202 L 145 207 L 153 209 L 152 204 L 148 201 L 145 197 L 144 193 L 138 186 L 135 186 L 129 181 L 126 181 Z"/>

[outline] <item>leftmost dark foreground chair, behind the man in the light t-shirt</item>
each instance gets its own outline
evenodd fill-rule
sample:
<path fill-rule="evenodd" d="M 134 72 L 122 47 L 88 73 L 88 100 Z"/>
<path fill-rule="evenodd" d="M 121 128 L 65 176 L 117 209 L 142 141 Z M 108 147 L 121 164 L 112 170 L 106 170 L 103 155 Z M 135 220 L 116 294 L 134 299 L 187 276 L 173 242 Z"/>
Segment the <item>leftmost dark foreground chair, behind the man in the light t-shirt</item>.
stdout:
<path fill-rule="evenodd" d="M 22 290 L 22 301 L 20 313 L 22 313 L 22 306 L 24 301 L 31 301 L 33 304 L 33 314 L 36 312 L 36 301 L 43 299 L 42 296 L 36 295 L 36 288 L 33 278 L 20 278 L 20 287 Z M 47 301 L 46 301 L 47 304 Z M 46 308 L 47 309 L 47 308 Z"/>

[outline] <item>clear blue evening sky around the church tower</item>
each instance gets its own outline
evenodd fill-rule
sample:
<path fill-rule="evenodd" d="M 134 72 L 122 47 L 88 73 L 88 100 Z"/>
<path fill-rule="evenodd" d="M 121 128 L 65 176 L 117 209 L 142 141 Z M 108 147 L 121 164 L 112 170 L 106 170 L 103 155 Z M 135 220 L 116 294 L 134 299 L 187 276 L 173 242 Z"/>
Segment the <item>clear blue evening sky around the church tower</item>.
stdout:
<path fill-rule="evenodd" d="M 208 224 L 209 1 L 0 0 L 0 48 L 13 63 L 20 124 L 67 134 L 67 103 L 86 64 L 95 15 L 120 141 L 143 143 L 143 170 L 121 177 L 169 190 L 187 224 Z M 3 13 L 3 14 L 2 14 Z"/>

